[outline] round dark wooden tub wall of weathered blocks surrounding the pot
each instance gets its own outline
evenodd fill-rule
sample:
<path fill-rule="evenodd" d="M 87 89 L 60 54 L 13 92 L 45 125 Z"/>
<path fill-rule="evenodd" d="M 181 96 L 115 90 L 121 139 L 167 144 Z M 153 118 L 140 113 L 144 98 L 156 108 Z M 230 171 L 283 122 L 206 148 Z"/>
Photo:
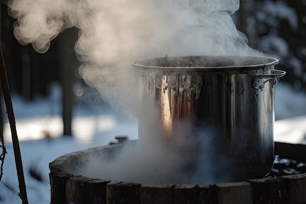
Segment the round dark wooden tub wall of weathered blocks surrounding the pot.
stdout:
<path fill-rule="evenodd" d="M 306 173 L 210 185 L 141 185 L 66 172 L 67 166 L 86 165 L 87 154 L 109 154 L 113 158 L 120 145 L 124 144 L 70 153 L 50 163 L 51 204 L 306 204 Z M 306 145 L 276 143 L 275 154 L 305 157 L 292 153 L 294 149 L 303 152 Z M 79 161 L 79 156 L 83 160 Z"/>

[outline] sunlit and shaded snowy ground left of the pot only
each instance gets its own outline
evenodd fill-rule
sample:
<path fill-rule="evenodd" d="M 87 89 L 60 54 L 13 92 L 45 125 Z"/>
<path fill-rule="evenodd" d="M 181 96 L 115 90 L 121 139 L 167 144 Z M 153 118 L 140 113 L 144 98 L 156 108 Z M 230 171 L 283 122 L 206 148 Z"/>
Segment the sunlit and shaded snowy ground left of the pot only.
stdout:
<path fill-rule="evenodd" d="M 35 102 L 27 102 L 18 95 L 12 95 L 29 204 L 50 203 L 48 174 L 49 163 L 54 159 L 66 153 L 108 145 L 110 141 L 115 141 L 114 136 L 137 139 L 135 119 L 116 113 L 106 105 L 85 107 L 81 104 L 73 109 L 74 136 L 63 137 L 60 91 L 60 87 L 55 85 L 50 98 L 38 98 Z M 8 123 L 4 124 L 3 134 L 7 155 L 0 182 L 0 204 L 21 204 Z M 51 138 L 46 139 L 46 134 Z M 33 179 L 31 168 L 42 176 L 42 181 Z"/>

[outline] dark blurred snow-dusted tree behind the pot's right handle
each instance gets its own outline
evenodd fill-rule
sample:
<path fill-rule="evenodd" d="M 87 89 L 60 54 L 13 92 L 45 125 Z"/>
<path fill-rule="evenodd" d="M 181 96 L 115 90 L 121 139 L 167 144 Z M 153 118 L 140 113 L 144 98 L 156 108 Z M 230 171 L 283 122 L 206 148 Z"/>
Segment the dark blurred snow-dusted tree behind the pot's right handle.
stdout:
<path fill-rule="evenodd" d="M 243 0 L 248 1 L 248 0 Z M 280 59 L 282 81 L 306 91 L 306 0 L 248 2 L 247 33 L 254 48 Z"/>

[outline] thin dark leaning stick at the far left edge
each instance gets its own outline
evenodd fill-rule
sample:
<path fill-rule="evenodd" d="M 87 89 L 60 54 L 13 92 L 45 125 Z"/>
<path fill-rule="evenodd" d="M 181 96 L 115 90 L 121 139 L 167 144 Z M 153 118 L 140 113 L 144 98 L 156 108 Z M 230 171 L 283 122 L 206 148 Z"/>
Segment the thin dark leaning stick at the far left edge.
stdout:
<path fill-rule="evenodd" d="M 11 133 L 12 133 L 15 163 L 16 163 L 17 176 L 18 176 L 18 181 L 19 181 L 19 190 L 20 190 L 19 196 L 22 199 L 22 204 L 28 204 L 28 199 L 27 199 L 26 189 L 25 189 L 25 182 L 24 182 L 24 175 L 23 175 L 23 168 L 22 168 L 22 159 L 21 159 L 19 141 L 18 141 L 18 136 L 17 136 L 17 131 L 16 131 L 16 122 L 15 122 L 15 116 L 14 116 L 14 111 L 13 111 L 13 104 L 12 104 L 10 89 L 8 86 L 8 80 L 7 80 L 6 69 L 5 69 L 4 60 L 2 56 L 1 44 L 0 44 L 0 79 L 1 79 L 1 87 L 3 90 L 3 96 L 4 96 L 8 121 L 10 123 Z"/>

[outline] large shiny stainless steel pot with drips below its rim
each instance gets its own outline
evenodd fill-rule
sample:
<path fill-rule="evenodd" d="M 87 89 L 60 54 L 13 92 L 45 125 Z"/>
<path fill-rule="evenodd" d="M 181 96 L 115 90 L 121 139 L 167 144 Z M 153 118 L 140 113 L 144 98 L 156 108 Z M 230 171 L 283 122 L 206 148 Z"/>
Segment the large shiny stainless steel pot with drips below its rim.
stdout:
<path fill-rule="evenodd" d="M 139 68 L 139 99 L 154 100 L 168 139 L 188 127 L 190 137 L 212 147 L 216 178 L 244 181 L 263 177 L 274 161 L 274 88 L 285 75 L 274 68 L 278 62 L 255 56 L 188 56 L 132 65 Z"/>

